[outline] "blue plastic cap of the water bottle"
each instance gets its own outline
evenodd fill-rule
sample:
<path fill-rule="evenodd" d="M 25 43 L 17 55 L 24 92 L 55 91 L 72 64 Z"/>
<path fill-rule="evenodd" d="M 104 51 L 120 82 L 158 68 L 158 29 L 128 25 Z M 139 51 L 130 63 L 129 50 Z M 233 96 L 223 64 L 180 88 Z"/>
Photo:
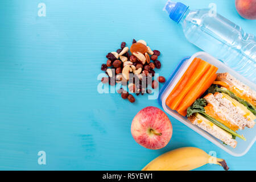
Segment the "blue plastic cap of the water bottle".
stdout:
<path fill-rule="evenodd" d="M 188 7 L 189 6 L 186 6 L 181 2 L 167 1 L 163 10 L 168 13 L 172 20 L 179 23 L 185 12 L 188 10 Z"/>

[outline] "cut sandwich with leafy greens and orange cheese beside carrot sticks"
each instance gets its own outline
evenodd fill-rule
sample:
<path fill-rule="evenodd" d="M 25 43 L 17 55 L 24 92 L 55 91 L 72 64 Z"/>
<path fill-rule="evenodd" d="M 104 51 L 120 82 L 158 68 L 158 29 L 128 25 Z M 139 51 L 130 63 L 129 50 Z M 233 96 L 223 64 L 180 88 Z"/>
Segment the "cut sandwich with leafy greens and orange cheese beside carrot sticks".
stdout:
<path fill-rule="evenodd" d="M 245 127 L 252 128 L 256 119 L 255 91 L 229 73 L 217 73 L 216 81 L 187 109 L 187 117 L 224 144 L 235 148 L 237 133 Z"/>

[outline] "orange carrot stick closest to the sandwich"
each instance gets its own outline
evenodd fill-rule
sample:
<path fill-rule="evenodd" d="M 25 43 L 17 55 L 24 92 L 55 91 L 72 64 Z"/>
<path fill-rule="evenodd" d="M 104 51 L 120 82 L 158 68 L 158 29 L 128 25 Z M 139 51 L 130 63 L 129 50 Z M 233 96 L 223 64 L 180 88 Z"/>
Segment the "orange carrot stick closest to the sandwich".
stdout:
<path fill-rule="evenodd" d="M 181 104 L 177 107 L 178 113 L 184 115 L 184 111 L 186 111 L 188 107 L 191 106 L 193 102 L 195 102 L 195 100 L 197 100 L 197 98 L 199 98 L 209 88 L 210 85 L 212 85 L 213 81 L 217 77 L 217 69 L 218 68 L 214 67 L 214 65 L 210 66 L 209 71 L 200 78 L 200 81 L 197 82 L 183 98 Z"/>

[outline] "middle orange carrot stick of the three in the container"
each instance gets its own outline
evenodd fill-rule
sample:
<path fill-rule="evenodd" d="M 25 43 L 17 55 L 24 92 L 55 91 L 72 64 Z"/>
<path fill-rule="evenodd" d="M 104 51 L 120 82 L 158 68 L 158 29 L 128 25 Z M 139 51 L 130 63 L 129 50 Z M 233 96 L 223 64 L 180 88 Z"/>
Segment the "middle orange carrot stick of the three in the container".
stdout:
<path fill-rule="evenodd" d="M 180 105 L 180 102 L 183 100 L 185 95 L 191 90 L 191 88 L 200 80 L 200 78 L 204 75 L 205 72 L 210 68 L 210 64 L 200 60 L 199 65 L 197 66 L 195 72 L 189 78 L 185 87 L 181 90 L 181 92 L 175 97 L 174 101 L 172 101 L 170 108 L 172 110 L 176 110 Z"/>

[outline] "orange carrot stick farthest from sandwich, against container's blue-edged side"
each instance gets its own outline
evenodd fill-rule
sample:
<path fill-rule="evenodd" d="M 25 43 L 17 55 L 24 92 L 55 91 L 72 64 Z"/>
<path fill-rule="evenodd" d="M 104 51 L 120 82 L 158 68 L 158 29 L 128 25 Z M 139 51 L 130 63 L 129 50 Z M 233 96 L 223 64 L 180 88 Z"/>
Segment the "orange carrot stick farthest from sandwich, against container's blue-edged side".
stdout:
<path fill-rule="evenodd" d="M 177 82 L 175 88 L 172 90 L 170 95 L 166 99 L 166 105 L 171 106 L 172 101 L 175 97 L 181 92 L 184 86 L 187 84 L 189 78 L 191 78 L 192 74 L 195 72 L 197 65 L 199 64 L 200 59 L 195 58 L 193 59 L 192 63 L 189 65 L 187 71 L 183 74 L 180 78 L 179 82 Z"/>

